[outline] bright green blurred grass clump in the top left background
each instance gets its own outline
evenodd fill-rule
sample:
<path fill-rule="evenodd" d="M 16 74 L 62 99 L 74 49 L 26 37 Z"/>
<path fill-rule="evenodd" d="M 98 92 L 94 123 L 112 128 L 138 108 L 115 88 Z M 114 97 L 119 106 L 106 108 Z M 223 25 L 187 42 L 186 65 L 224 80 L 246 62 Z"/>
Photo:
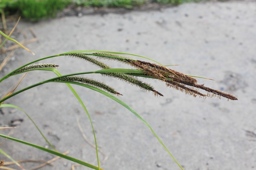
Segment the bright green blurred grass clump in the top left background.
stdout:
<path fill-rule="evenodd" d="M 71 0 L 18 0 L 21 15 L 31 20 L 53 18 L 63 10 Z"/>

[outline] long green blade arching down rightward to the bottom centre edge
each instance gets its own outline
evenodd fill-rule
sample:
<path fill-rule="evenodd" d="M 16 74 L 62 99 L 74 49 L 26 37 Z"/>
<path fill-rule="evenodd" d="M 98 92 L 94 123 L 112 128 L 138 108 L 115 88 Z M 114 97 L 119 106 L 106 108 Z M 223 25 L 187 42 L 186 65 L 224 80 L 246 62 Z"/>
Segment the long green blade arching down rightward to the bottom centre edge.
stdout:
<path fill-rule="evenodd" d="M 172 156 L 172 154 L 168 151 L 168 149 L 165 147 L 164 143 L 160 140 L 160 138 L 156 135 L 156 133 L 154 132 L 154 130 L 151 128 L 151 126 L 148 124 L 148 122 L 146 122 L 137 112 L 135 112 L 135 110 L 132 109 L 132 107 L 128 106 L 126 103 L 124 103 L 122 100 L 118 99 L 117 97 L 109 94 L 108 92 L 105 92 L 101 89 L 98 89 L 96 87 L 90 86 L 90 85 L 85 85 L 82 83 L 78 83 L 78 82 L 70 82 L 70 81 L 54 81 L 54 82 L 59 82 L 59 83 L 69 83 L 69 84 L 75 84 L 75 85 L 80 85 L 80 86 L 84 86 L 87 87 L 89 89 L 92 89 L 96 92 L 100 92 L 101 94 L 104 94 L 105 96 L 109 97 L 110 99 L 116 101 L 117 103 L 121 104 L 122 106 L 124 106 L 125 108 L 127 108 L 128 110 L 130 110 L 135 116 L 137 116 L 144 124 L 146 124 L 148 126 L 148 128 L 151 130 L 151 132 L 155 135 L 155 137 L 158 139 L 158 141 L 162 144 L 162 146 L 164 147 L 164 149 L 169 153 L 169 155 L 172 157 L 172 159 L 178 164 L 178 166 L 180 166 L 180 164 L 178 163 L 178 161 Z M 180 168 L 182 170 L 184 170 L 182 168 L 182 166 L 180 166 Z"/>

